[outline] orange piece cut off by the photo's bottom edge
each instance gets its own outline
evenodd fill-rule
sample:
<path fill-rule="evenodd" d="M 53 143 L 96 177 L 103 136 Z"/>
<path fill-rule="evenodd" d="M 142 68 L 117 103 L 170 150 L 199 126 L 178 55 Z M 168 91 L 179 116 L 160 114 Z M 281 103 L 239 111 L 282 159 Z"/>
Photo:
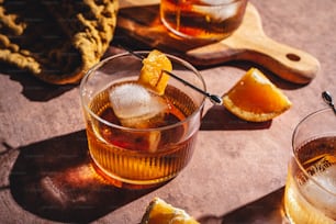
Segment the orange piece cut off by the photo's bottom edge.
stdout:
<path fill-rule="evenodd" d="M 146 209 L 141 224 L 199 224 L 186 211 L 155 198 Z"/>

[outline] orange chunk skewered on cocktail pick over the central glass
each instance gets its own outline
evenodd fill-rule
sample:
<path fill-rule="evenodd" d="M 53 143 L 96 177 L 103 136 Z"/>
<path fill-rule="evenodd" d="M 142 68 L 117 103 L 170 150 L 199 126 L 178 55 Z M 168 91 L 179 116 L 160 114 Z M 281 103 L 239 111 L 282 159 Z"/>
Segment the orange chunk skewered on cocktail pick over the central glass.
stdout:
<path fill-rule="evenodd" d="M 171 61 L 164 53 L 154 49 L 143 59 L 138 82 L 161 96 L 169 80 L 169 76 L 163 70 L 171 71 Z"/>

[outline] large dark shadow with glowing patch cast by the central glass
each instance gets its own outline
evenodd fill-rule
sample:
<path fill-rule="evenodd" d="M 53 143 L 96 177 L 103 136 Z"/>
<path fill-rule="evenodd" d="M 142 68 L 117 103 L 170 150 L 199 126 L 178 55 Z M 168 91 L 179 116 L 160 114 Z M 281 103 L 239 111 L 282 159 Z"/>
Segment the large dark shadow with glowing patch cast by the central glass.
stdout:
<path fill-rule="evenodd" d="M 85 131 L 19 148 L 10 190 L 25 210 L 52 221 L 87 223 L 155 190 L 115 188 L 87 154 Z"/>

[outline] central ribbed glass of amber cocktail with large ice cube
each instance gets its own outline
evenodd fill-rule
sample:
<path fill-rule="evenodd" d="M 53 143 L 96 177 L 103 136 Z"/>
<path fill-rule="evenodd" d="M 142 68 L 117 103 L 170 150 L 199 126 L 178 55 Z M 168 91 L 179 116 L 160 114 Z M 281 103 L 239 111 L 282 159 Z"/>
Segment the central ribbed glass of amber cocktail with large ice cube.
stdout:
<path fill-rule="evenodd" d="M 205 89 L 194 67 L 167 57 L 175 75 Z M 80 86 L 90 156 L 117 187 L 146 188 L 177 176 L 191 159 L 200 127 L 204 97 L 175 79 L 156 94 L 138 85 L 142 66 L 132 54 L 115 55 L 93 67 Z"/>

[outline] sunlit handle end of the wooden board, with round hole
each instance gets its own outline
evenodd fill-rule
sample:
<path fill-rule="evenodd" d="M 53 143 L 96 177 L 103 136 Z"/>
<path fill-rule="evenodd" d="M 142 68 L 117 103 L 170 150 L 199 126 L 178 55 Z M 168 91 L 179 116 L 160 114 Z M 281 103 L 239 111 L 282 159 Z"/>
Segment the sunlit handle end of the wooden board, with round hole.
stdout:
<path fill-rule="evenodd" d="M 250 3 L 240 27 L 232 36 L 191 49 L 187 56 L 199 65 L 250 60 L 294 83 L 310 82 L 320 70 L 320 63 L 312 55 L 269 38 L 262 31 L 259 13 Z"/>

